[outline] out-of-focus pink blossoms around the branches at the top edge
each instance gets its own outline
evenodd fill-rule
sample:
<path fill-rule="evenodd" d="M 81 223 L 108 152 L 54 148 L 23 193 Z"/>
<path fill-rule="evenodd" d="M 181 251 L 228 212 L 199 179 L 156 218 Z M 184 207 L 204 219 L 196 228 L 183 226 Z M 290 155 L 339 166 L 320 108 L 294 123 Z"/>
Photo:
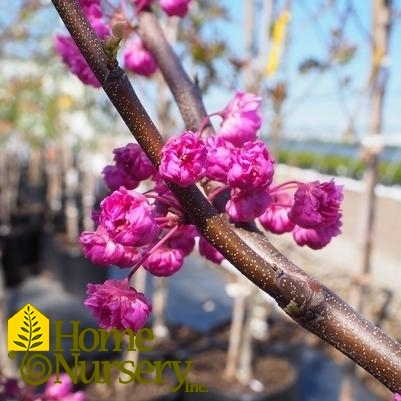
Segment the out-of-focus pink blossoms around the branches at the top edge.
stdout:
<path fill-rule="evenodd" d="M 169 16 L 185 17 L 191 0 L 160 0 L 161 9 Z M 109 25 L 114 19 L 110 15 L 105 21 L 105 15 L 101 9 L 100 0 L 79 0 L 85 15 L 94 28 L 100 39 L 110 36 L 111 29 Z M 135 0 L 133 2 L 134 12 L 140 12 L 142 9 L 150 7 L 154 0 Z M 115 19 L 121 20 L 121 16 L 128 21 L 131 20 L 127 4 L 122 5 L 121 9 L 116 10 Z M 134 27 L 128 31 L 135 31 Z M 142 39 L 138 35 L 125 38 L 126 41 L 122 50 L 122 59 L 124 66 L 128 71 L 149 77 L 157 70 L 157 63 L 153 55 L 146 49 Z M 91 85 L 95 88 L 101 86 L 95 77 L 86 60 L 82 56 L 77 45 L 69 35 L 58 34 L 55 37 L 55 49 L 60 54 L 63 62 L 70 71 L 75 74 L 85 85 Z"/>

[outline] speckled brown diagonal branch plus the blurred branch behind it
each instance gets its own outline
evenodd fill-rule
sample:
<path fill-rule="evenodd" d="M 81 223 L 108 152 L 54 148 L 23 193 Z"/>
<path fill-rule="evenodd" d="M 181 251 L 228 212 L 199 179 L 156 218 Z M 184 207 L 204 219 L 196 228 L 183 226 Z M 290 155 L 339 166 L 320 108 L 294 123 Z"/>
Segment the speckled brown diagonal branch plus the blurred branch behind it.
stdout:
<path fill-rule="evenodd" d="M 52 1 L 110 101 L 157 167 L 162 138 L 125 72 L 110 63 L 77 0 Z M 196 130 L 206 116 L 199 91 L 187 78 L 161 30 L 153 30 L 155 17 L 144 13 L 140 18 L 143 38 L 149 41 L 147 45 L 158 59 L 185 123 Z M 157 50 L 158 43 L 163 49 Z M 202 235 L 242 274 L 274 297 L 287 314 L 349 356 L 390 390 L 401 392 L 401 344 L 291 263 L 266 237 L 229 225 L 196 186 L 183 189 L 169 184 L 169 187 Z"/>

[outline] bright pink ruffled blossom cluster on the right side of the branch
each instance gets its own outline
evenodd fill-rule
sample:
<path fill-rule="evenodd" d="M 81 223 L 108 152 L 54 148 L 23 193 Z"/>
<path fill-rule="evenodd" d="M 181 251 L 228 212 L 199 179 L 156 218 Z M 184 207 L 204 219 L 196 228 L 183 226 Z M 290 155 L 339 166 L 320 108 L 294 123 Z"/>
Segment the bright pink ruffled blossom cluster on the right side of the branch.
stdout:
<path fill-rule="evenodd" d="M 272 185 L 274 160 L 257 138 L 260 103 L 237 92 L 214 114 L 222 118 L 217 135 L 202 140 L 185 132 L 166 143 L 159 173 L 182 187 L 202 178 L 218 182 L 216 192 L 230 191 L 225 210 L 233 222 L 257 219 L 266 230 L 292 232 L 298 245 L 320 249 L 341 232 L 342 188 L 334 181 Z"/>

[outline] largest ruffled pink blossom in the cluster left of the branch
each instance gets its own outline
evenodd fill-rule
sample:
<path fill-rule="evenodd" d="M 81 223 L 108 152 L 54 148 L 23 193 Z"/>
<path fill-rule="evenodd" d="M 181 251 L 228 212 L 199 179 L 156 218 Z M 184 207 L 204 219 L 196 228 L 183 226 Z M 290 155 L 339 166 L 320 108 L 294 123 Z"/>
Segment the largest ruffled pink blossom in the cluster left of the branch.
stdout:
<path fill-rule="evenodd" d="M 115 242 L 147 245 L 159 234 L 153 208 L 139 192 L 121 187 L 103 199 L 100 208 L 99 222 Z"/>

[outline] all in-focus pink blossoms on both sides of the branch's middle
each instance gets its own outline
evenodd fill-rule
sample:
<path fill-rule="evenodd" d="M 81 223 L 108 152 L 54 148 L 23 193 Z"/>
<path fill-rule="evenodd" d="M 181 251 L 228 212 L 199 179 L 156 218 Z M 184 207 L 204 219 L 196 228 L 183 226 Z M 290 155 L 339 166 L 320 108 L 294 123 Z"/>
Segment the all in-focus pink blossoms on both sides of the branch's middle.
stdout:
<path fill-rule="evenodd" d="M 235 223 L 261 224 L 276 234 L 292 232 L 298 245 L 319 249 L 340 233 L 342 188 L 329 182 L 289 181 L 273 184 L 274 160 L 258 139 L 261 98 L 237 92 L 221 112 L 221 131 L 204 136 L 185 131 L 170 138 L 159 171 L 137 144 L 114 150 L 114 164 L 103 170 L 111 193 L 94 213 L 95 231 L 80 242 L 93 263 L 127 268 L 127 279 L 89 284 L 85 305 L 107 329 L 131 328 L 146 322 L 151 305 L 129 286 L 143 266 L 156 276 L 170 276 L 183 265 L 196 241 L 202 256 L 220 263 L 224 257 L 199 236 L 164 182 L 188 187 L 212 182 L 211 202 Z M 137 191 L 147 180 L 148 190 Z"/>

